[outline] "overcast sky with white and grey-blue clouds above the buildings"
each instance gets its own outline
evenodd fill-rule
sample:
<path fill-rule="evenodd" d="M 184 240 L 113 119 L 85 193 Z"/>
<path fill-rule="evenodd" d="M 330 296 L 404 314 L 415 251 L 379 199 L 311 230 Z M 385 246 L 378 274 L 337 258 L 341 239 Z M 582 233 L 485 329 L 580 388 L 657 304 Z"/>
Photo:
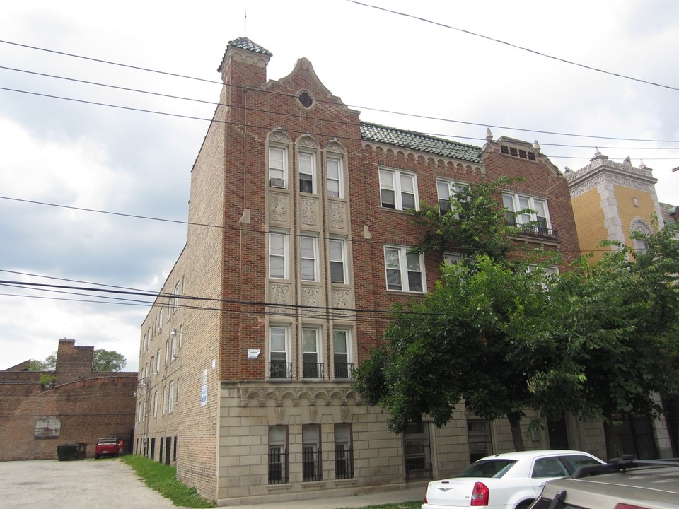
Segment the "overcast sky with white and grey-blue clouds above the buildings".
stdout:
<path fill-rule="evenodd" d="M 186 240 L 216 69 L 243 35 L 273 53 L 269 79 L 307 57 L 364 121 L 477 146 L 490 126 L 496 139 L 538 140 L 562 171 L 598 146 L 643 160 L 660 201 L 679 204 L 679 2 L 365 3 L 410 16 L 348 0 L 4 2 L 0 279 L 161 288 Z M 45 358 L 62 337 L 137 370 L 150 299 L 69 292 L 0 285 L 0 370 Z"/>

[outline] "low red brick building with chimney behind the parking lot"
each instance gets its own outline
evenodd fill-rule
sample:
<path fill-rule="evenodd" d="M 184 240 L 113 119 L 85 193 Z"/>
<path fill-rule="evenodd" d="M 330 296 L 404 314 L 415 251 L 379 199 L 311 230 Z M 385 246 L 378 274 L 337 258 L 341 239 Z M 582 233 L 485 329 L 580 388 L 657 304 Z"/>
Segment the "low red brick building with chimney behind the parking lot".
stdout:
<path fill-rule="evenodd" d="M 137 373 L 93 372 L 93 346 L 59 339 L 57 368 L 29 371 L 30 361 L 0 371 L 0 461 L 52 460 L 57 445 L 117 436 L 126 449 L 134 428 Z M 45 382 L 41 375 L 54 376 Z"/>

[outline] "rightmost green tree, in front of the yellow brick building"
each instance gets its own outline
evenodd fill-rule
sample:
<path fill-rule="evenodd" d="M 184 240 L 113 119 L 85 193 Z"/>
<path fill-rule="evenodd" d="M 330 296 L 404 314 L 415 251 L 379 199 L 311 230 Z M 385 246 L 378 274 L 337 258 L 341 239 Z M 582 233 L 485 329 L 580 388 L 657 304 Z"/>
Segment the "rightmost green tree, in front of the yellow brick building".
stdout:
<path fill-rule="evenodd" d="M 632 233 L 646 250 L 603 242 L 615 250 L 596 262 L 579 259 L 552 292 L 562 312 L 558 341 L 571 346 L 569 370 L 582 383 L 564 387 L 553 373 L 538 373 L 531 387 L 542 409 L 602 418 L 609 457 L 625 452 L 615 450 L 613 423 L 657 416 L 654 393 L 679 387 L 678 233 L 677 225 Z"/>

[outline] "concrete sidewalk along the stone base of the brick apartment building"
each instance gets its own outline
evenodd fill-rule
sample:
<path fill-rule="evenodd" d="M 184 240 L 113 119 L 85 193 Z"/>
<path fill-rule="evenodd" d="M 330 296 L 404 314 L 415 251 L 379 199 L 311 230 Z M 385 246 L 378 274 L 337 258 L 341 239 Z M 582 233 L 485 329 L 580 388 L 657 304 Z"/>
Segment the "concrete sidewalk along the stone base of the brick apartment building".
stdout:
<path fill-rule="evenodd" d="M 334 498 L 310 498 L 301 501 L 269 502 L 256 505 L 236 505 L 238 509 L 340 509 L 364 508 L 368 505 L 383 505 L 386 503 L 412 502 L 424 500 L 426 484 L 381 493 L 367 493 L 356 496 L 340 496 Z"/>

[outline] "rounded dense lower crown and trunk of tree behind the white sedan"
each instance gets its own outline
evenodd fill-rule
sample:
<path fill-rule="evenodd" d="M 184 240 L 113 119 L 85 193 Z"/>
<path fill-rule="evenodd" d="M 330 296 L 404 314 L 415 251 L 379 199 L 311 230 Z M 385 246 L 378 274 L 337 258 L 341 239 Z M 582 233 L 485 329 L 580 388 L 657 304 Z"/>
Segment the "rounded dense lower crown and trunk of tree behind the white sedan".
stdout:
<path fill-rule="evenodd" d="M 359 366 L 356 389 L 390 411 L 392 431 L 423 414 L 443 426 L 464 401 L 484 419 L 509 419 L 523 450 L 519 425 L 535 399 L 528 380 L 559 356 L 544 277 L 486 255 L 443 264 L 422 302 L 395 308 L 387 344 Z"/>

